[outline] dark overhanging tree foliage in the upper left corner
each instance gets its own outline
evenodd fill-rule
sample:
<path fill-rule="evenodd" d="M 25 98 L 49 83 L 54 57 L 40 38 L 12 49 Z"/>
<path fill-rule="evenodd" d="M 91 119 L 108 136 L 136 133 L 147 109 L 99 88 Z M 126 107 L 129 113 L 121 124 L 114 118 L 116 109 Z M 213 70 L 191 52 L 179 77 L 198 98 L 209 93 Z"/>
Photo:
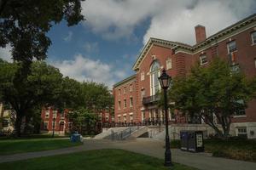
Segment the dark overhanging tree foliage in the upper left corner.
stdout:
<path fill-rule="evenodd" d="M 46 33 L 61 20 L 67 20 L 67 26 L 84 20 L 81 1 L 83 0 L 0 1 L 0 47 L 4 48 L 9 43 L 13 59 L 22 61 L 24 68 L 34 58 L 45 59 L 50 45 Z"/>

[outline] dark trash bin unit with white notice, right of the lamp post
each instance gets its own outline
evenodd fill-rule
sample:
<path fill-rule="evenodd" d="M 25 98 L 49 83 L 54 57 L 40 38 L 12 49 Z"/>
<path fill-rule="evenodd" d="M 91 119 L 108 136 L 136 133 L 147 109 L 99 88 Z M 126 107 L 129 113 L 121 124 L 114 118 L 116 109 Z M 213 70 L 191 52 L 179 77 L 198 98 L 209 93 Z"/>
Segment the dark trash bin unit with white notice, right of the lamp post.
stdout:
<path fill-rule="evenodd" d="M 202 131 L 181 131 L 181 150 L 202 152 L 204 151 Z"/>

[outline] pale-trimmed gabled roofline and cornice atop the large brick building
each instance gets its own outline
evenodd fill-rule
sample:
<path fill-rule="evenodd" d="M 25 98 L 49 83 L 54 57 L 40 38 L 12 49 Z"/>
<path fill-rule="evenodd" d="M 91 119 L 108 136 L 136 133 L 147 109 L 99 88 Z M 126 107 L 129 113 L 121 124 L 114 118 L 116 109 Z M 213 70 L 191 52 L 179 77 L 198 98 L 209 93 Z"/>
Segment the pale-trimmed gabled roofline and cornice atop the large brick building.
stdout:
<path fill-rule="evenodd" d="M 133 65 L 132 69 L 134 71 L 137 71 L 139 68 L 139 65 L 143 61 L 146 54 L 148 54 L 148 50 L 151 48 L 153 44 L 160 45 L 163 47 L 172 48 L 173 50 L 185 50 L 187 53 L 195 54 L 199 49 L 206 47 L 207 45 L 211 44 L 212 42 L 217 42 L 217 40 L 221 37 L 224 37 L 232 32 L 237 31 L 241 28 L 246 28 L 247 25 L 253 23 L 256 21 L 256 14 L 252 14 L 248 16 L 247 18 L 240 20 L 236 22 L 236 24 L 233 24 L 231 26 L 228 26 L 224 28 L 222 31 L 218 31 L 217 33 L 213 34 L 210 37 L 207 37 L 207 39 L 203 42 L 197 43 L 194 46 L 190 46 L 188 44 L 182 43 L 182 42 L 172 42 L 167 40 L 162 40 L 154 37 L 150 37 L 147 44 L 144 46 L 143 50 L 138 55 L 138 58 Z M 254 25 L 253 25 L 254 26 Z M 256 26 L 256 24 L 255 24 Z"/>

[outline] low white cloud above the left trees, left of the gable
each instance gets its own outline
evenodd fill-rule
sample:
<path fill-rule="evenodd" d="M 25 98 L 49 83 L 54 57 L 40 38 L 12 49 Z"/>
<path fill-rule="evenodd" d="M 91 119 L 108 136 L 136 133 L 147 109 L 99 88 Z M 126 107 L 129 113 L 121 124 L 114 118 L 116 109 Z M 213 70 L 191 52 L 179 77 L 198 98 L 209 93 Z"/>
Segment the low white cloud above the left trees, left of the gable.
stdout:
<path fill-rule="evenodd" d="M 112 89 L 115 82 L 124 79 L 128 75 L 124 70 L 115 68 L 111 64 L 101 60 L 93 60 L 78 54 L 74 59 L 63 61 L 50 61 L 49 64 L 59 68 L 64 76 L 72 77 L 79 82 L 93 81 L 105 83 Z"/>

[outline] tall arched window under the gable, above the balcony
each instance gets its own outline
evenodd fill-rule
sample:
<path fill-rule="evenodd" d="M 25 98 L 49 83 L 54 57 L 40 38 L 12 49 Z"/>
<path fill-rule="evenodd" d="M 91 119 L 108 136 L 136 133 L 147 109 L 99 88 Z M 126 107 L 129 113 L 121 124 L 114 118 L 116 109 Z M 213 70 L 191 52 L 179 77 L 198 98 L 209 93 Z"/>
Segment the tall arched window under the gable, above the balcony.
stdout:
<path fill-rule="evenodd" d="M 150 67 L 150 94 L 155 95 L 160 90 L 160 84 L 158 81 L 160 77 L 160 64 L 158 60 L 154 60 Z"/>

